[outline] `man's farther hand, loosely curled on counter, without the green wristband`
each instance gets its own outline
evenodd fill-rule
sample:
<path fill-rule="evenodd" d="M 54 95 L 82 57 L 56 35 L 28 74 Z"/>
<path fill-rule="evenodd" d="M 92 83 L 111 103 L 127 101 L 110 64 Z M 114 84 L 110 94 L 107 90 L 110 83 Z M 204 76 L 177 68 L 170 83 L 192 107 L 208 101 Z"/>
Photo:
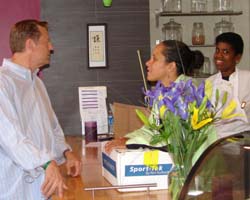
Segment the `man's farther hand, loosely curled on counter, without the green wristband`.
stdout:
<path fill-rule="evenodd" d="M 65 153 L 67 174 L 73 177 L 81 173 L 81 161 L 71 152 L 67 150 Z"/>

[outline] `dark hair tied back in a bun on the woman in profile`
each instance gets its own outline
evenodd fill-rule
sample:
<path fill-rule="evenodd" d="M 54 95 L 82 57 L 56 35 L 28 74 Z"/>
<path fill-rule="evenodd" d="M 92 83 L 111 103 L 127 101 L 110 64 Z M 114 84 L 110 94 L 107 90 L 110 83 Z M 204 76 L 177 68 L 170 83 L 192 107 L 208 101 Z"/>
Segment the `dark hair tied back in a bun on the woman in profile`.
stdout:
<path fill-rule="evenodd" d="M 183 42 L 177 40 L 165 40 L 162 42 L 165 49 L 162 54 L 166 62 L 175 62 L 177 74 L 192 74 L 194 69 L 199 69 L 204 62 L 204 55 L 201 51 L 192 51 Z"/>

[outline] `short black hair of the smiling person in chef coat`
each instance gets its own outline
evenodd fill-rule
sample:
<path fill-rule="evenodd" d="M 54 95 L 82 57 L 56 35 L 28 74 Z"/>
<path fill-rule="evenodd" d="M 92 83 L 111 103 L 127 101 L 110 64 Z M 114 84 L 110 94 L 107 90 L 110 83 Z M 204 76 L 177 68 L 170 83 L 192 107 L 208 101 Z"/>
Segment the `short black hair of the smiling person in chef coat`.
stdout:
<path fill-rule="evenodd" d="M 233 32 L 222 33 L 215 38 L 215 44 L 217 45 L 219 42 L 231 45 L 235 55 L 243 54 L 244 42 L 239 34 Z"/>

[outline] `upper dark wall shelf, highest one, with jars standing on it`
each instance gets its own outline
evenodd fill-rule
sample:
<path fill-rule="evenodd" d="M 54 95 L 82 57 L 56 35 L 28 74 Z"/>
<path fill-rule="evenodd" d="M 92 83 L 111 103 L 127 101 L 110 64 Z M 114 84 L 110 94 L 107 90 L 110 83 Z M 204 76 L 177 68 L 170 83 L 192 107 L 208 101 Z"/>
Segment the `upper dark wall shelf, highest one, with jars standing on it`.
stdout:
<path fill-rule="evenodd" d="M 219 15 L 242 15 L 242 11 L 225 12 L 160 12 L 159 16 L 219 16 Z"/>

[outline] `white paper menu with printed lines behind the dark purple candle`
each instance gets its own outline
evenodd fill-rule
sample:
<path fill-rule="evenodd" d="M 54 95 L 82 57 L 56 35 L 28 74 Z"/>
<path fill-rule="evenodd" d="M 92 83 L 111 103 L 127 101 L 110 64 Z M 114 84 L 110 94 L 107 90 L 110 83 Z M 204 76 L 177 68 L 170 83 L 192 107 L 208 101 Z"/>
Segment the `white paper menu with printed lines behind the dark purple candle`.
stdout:
<path fill-rule="evenodd" d="M 88 86 L 79 87 L 79 106 L 82 123 L 82 135 L 85 135 L 84 123 L 86 121 L 97 122 L 97 133 L 108 133 L 107 115 L 107 87 Z"/>

